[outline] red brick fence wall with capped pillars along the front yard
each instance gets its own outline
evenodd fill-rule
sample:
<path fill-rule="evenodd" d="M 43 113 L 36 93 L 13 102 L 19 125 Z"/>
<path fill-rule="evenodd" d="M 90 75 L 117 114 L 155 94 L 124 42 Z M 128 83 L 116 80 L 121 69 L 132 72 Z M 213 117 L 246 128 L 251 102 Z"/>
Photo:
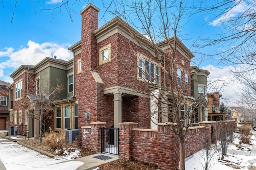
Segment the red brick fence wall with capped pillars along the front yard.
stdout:
<path fill-rule="evenodd" d="M 234 125 L 234 121 L 225 121 Z M 94 152 L 100 152 L 100 127 L 104 122 L 91 123 L 91 127 L 82 127 L 82 146 Z M 204 148 L 206 142 L 217 143 L 218 123 L 200 122 L 197 127 L 190 127 L 185 138 L 185 157 Z M 119 157 L 130 160 L 136 158 L 144 162 L 155 163 L 163 170 L 179 169 L 179 137 L 170 125 L 158 124 L 158 129 L 137 128 L 138 123 L 120 123 Z"/>

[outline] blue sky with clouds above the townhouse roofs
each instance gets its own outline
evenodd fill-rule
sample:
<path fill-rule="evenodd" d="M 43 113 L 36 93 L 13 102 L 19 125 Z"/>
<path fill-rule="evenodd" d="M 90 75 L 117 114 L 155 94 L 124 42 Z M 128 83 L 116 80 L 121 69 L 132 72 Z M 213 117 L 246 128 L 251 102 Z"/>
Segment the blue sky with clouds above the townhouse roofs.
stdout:
<path fill-rule="evenodd" d="M 34 2 L 34 4 L 33 4 Z M 40 2 L 40 4 L 39 4 Z M 12 83 L 9 75 L 15 71 L 20 65 L 35 65 L 44 57 L 53 57 L 57 55 L 58 59 L 68 60 L 72 58 L 72 53 L 68 51 L 68 47 L 81 40 L 81 16 L 80 11 L 86 6 L 87 1 L 71 1 L 70 3 L 72 21 L 68 12 L 62 8 L 61 11 L 56 9 L 52 15 L 51 10 L 42 10 L 42 8 L 53 8 L 60 0 L 22 0 L 17 1 L 16 10 L 14 12 L 14 2 L 12 0 L 4 0 L 0 2 L 0 80 Z M 108 3 L 109 1 L 104 1 Z M 214 2 L 214 1 L 208 1 Z M 111 20 L 111 17 L 104 15 L 104 8 L 101 0 L 93 1 L 94 5 L 100 8 L 99 27 Z M 14 16 L 12 19 L 12 13 Z M 211 36 L 214 32 L 222 29 L 221 18 L 206 22 L 206 18 L 211 17 L 207 14 L 198 14 L 183 20 L 186 25 L 182 29 L 185 38 L 180 38 L 188 47 L 192 47 L 192 43 L 199 36 Z M 12 23 L 11 23 L 12 21 Z M 194 52 L 196 48 L 191 48 Z M 203 52 L 216 51 L 217 47 L 206 47 L 200 49 Z M 228 67 L 220 65 L 218 58 L 214 59 L 205 57 L 200 54 L 196 55 L 193 61 L 199 61 L 204 58 L 204 62 L 194 63 L 202 69 L 211 72 L 210 80 L 227 79 Z M 224 97 L 232 97 L 232 89 L 236 86 L 226 86 Z M 228 92 L 227 92 L 228 90 Z"/>

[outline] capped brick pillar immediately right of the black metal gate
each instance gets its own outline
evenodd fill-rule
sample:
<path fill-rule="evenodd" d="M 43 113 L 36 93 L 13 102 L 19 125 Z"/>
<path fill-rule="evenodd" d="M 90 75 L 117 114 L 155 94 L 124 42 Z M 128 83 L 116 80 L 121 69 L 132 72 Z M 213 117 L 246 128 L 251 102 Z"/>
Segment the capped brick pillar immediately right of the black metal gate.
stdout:
<path fill-rule="evenodd" d="M 132 158 L 132 129 L 138 123 L 124 122 L 119 123 L 119 158 L 130 160 Z"/>

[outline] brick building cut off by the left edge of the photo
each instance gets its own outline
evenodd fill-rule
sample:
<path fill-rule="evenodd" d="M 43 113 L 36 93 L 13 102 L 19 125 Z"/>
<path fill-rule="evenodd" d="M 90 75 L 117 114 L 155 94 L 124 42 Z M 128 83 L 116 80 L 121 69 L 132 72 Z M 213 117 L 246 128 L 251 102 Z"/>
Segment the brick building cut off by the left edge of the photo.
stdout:
<path fill-rule="evenodd" d="M 10 85 L 0 80 L 0 130 L 8 129 L 9 121 L 9 91 L 7 86 Z"/>

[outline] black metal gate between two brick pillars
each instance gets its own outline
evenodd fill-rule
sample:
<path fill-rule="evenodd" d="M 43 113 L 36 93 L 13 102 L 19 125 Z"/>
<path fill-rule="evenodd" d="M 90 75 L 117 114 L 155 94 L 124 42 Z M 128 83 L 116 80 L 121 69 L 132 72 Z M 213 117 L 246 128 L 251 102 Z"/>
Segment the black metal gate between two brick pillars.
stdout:
<path fill-rule="evenodd" d="M 101 128 L 101 153 L 119 155 L 119 128 Z"/>

